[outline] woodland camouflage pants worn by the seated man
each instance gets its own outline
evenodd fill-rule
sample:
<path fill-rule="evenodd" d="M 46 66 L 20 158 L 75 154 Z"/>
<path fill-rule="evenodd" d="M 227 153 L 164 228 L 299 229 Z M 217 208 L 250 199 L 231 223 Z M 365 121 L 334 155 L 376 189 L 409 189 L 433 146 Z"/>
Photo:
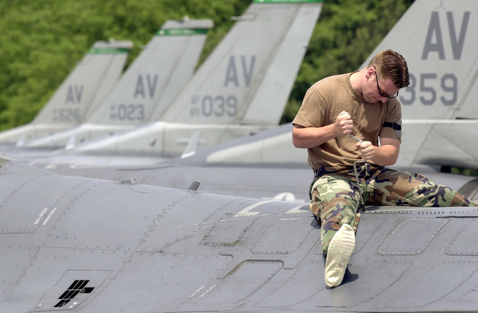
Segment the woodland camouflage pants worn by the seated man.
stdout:
<path fill-rule="evenodd" d="M 309 209 L 321 226 L 322 250 L 327 249 L 341 225 L 357 231 L 359 190 L 353 167 L 339 171 L 320 167 L 310 185 Z M 435 185 L 420 174 L 364 163 L 357 167 L 362 199 L 371 205 L 416 207 L 477 207 L 452 188 Z"/>

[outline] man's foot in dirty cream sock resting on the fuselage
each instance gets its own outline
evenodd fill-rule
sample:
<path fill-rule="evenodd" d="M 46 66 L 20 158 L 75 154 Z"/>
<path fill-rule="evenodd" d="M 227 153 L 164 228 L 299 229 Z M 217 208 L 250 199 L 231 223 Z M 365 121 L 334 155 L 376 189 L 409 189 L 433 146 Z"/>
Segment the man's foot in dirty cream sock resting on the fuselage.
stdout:
<path fill-rule="evenodd" d="M 325 267 L 325 281 L 329 287 L 340 285 L 344 279 L 348 260 L 355 248 L 354 230 L 344 224 L 330 241 L 327 250 L 327 259 Z"/>

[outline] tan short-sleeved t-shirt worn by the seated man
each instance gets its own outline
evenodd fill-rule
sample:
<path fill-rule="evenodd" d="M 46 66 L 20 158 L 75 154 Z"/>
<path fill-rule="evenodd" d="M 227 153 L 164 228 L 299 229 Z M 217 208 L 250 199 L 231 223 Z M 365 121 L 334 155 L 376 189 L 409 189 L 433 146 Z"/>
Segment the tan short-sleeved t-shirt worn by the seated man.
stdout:
<path fill-rule="evenodd" d="M 370 141 L 378 146 L 379 136 L 401 140 L 401 132 L 382 127 L 384 122 L 402 124 L 402 110 L 396 98 L 386 103 L 368 103 L 350 84 L 352 73 L 324 78 L 313 84 L 305 94 L 302 106 L 293 124 L 304 127 L 322 127 L 334 124 L 337 115 L 348 112 L 354 127 L 351 136 Z M 348 136 L 333 138 L 320 146 L 307 149 L 309 165 L 319 167 L 348 167 L 361 160 L 356 140 Z M 370 162 L 373 163 L 373 162 Z"/>

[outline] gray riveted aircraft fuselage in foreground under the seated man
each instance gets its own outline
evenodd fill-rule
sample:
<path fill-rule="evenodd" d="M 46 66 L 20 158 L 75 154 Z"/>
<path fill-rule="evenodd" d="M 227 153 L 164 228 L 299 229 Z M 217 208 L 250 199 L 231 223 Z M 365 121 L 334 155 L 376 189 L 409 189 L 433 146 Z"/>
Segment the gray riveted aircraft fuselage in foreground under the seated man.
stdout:
<path fill-rule="evenodd" d="M 307 204 L 1 165 L 1 312 L 478 310 L 473 208 L 368 208 L 328 288 Z"/>

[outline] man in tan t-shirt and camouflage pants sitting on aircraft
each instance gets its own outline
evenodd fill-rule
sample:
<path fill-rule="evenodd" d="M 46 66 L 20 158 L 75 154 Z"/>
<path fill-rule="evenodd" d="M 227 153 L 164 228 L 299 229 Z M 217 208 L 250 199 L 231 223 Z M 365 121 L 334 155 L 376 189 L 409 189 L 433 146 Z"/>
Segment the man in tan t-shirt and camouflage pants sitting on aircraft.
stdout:
<path fill-rule="evenodd" d="M 361 201 L 393 206 L 478 206 L 422 175 L 385 167 L 398 158 L 402 111 L 396 97 L 409 83 L 402 55 L 382 51 L 361 71 L 312 85 L 293 120 L 293 144 L 308 149 L 308 162 L 315 172 L 309 209 L 322 225 L 329 287 L 338 286 L 344 277 L 355 247 Z M 351 133 L 363 142 L 351 139 Z M 353 164 L 360 159 L 366 163 L 357 168 L 358 188 Z"/>

